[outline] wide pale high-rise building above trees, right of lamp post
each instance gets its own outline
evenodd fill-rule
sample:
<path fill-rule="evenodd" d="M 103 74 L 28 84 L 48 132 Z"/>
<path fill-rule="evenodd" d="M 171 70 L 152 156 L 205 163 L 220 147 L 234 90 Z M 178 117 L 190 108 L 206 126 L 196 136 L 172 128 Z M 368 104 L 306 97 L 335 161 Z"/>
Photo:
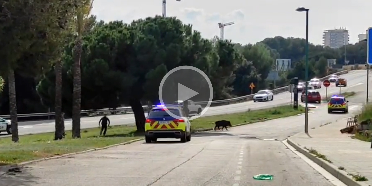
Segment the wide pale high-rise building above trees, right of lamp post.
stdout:
<path fill-rule="evenodd" d="M 340 48 L 349 44 L 349 31 L 345 28 L 326 30 L 323 32 L 324 47 Z"/>

